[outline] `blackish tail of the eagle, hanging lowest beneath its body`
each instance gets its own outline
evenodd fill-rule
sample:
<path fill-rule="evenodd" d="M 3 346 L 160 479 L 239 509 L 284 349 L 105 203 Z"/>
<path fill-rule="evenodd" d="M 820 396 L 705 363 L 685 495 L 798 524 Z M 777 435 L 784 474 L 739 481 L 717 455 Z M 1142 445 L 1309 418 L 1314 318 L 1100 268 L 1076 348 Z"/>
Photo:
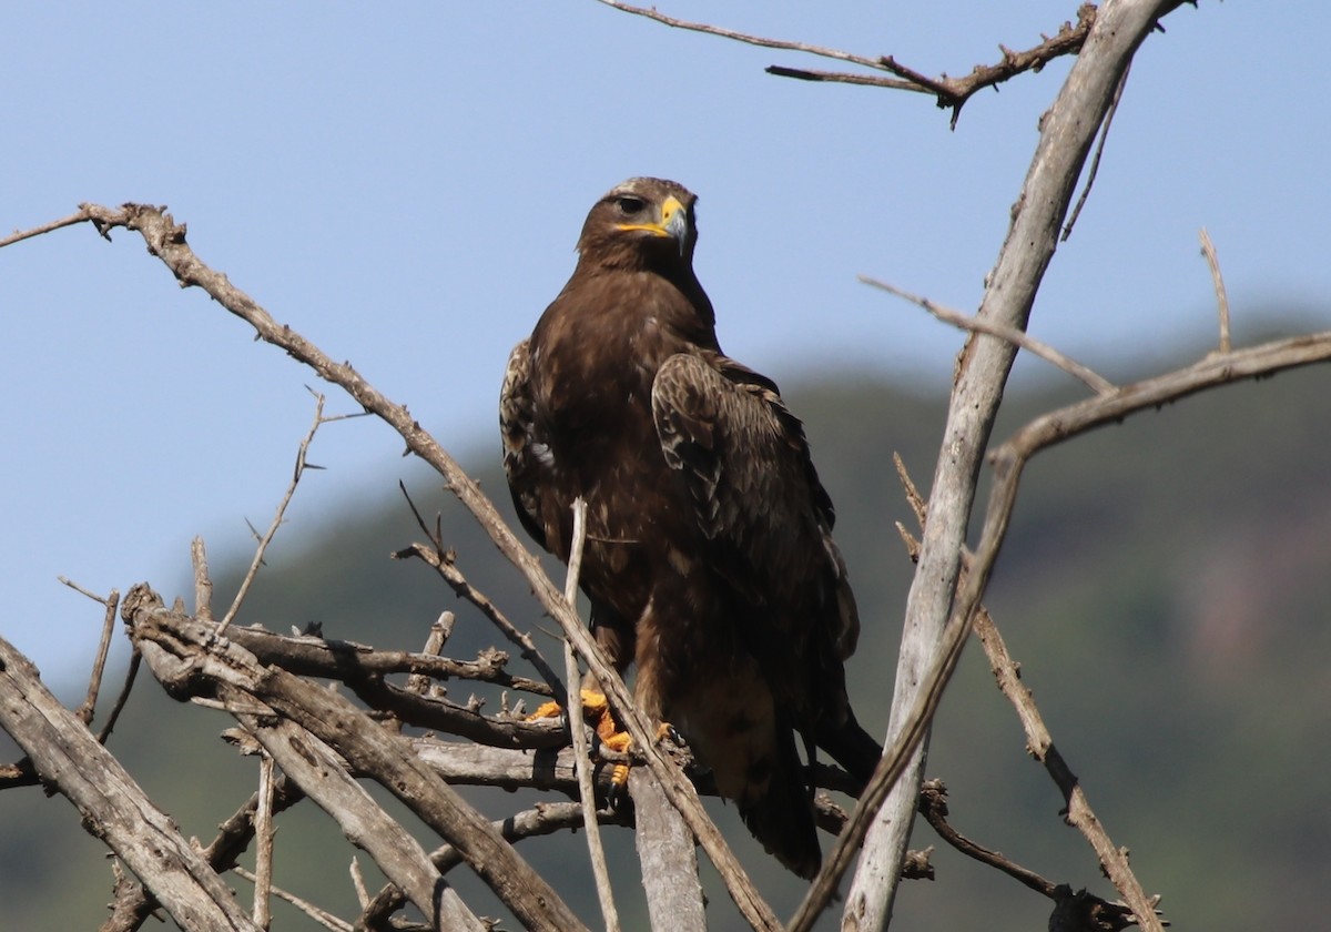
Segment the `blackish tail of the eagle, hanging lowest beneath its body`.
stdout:
<path fill-rule="evenodd" d="M 813 807 L 809 806 L 804 767 L 795 751 L 795 735 L 783 730 L 780 760 L 757 794 L 737 802 L 744 824 L 767 852 L 788 869 L 812 880 L 823 864 Z"/>

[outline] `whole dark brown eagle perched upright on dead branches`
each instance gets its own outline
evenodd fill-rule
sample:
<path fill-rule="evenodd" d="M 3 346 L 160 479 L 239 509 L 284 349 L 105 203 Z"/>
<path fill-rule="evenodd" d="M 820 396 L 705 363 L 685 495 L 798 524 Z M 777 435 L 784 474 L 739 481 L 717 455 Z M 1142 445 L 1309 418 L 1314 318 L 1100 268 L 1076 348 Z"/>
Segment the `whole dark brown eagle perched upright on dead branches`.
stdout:
<path fill-rule="evenodd" d="M 523 526 L 560 559 L 586 499 L 598 643 L 620 671 L 636 662 L 640 708 L 811 877 L 815 746 L 860 782 L 881 754 L 845 692 L 860 620 L 800 421 L 716 342 L 695 201 L 631 178 L 591 209 L 572 278 L 508 358 L 504 470 Z"/>

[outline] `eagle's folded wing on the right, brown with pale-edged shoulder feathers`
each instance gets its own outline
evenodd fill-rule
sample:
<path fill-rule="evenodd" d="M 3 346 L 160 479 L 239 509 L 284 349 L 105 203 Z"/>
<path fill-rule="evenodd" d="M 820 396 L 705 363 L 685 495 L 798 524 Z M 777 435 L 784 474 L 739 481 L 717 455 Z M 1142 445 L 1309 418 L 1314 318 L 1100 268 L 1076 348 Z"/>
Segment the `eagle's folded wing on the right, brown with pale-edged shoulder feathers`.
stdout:
<path fill-rule="evenodd" d="M 677 354 L 656 375 L 652 413 L 712 566 L 769 610 L 796 651 L 828 651 L 840 666 L 860 622 L 832 541 L 836 515 L 776 385 L 719 354 Z"/>

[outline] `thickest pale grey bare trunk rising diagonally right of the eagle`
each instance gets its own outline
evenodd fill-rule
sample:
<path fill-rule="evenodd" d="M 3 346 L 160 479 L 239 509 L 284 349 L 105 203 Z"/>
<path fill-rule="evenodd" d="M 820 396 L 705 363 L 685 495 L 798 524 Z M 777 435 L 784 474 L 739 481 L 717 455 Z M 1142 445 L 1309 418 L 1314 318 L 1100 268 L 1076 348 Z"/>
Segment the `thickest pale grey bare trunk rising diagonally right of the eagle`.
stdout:
<path fill-rule="evenodd" d="M 1157 20 L 1175 5 L 1174 0 L 1121 0 L 1097 13 L 1058 99 L 1042 120 L 1008 238 L 986 281 L 980 317 L 1025 329 L 1077 177 L 1123 69 Z M 952 612 L 981 458 L 1014 354 L 1012 344 L 993 338 L 970 340 L 962 351 L 932 486 L 929 523 L 906 602 L 884 742 L 889 750 L 792 920 L 792 932 L 812 925 L 861 839 L 864 852 L 847 897 L 847 913 L 858 916 L 866 928 L 882 928 L 890 916 L 922 780 L 918 748 L 961 655 L 970 610 L 978 602 L 973 599 L 961 616 Z M 872 829 L 870 819 L 876 820 Z M 1135 912 L 1142 904 L 1133 905 Z"/>

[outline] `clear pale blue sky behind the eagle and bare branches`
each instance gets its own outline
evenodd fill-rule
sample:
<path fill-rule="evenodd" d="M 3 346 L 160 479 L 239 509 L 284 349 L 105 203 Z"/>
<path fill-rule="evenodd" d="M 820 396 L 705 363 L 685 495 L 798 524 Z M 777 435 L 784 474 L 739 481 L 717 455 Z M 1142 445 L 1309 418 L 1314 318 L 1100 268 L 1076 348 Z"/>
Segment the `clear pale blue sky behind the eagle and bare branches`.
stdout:
<path fill-rule="evenodd" d="M 925 73 L 1026 48 L 1075 11 L 658 7 Z M 1034 334 L 1110 374 L 1209 337 L 1203 225 L 1240 340 L 1278 326 L 1278 305 L 1331 326 L 1331 109 L 1308 80 L 1328 19 L 1202 0 L 1166 20 Z M 856 276 L 973 310 L 1067 69 L 981 93 L 949 132 L 928 99 L 772 77 L 768 64 L 829 63 L 594 0 L 16 4 L 0 49 L 0 226 L 80 201 L 166 204 L 206 262 L 463 454 L 498 446 L 506 354 L 563 285 L 587 208 L 634 174 L 700 194 L 696 264 L 732 355 L 785 383 L 868 367 L 945 389 L 961 337 Z M 81 675 L 100 611 L 56 577 L 169 588 L 196 534 L 214 559 L 246 553 L 245 519 L 266 526 L 314 382 L 124 233 L 0 250 L 0 632 L 48 678 Z M 329 407 L 350 410 L 335 391 Z M 302 486 L 278 550 L 311 541 L 321 513 L 390 494 L 399 451 L 369 421 L 325 427 L 313 458 L 327 471 Z"/>

